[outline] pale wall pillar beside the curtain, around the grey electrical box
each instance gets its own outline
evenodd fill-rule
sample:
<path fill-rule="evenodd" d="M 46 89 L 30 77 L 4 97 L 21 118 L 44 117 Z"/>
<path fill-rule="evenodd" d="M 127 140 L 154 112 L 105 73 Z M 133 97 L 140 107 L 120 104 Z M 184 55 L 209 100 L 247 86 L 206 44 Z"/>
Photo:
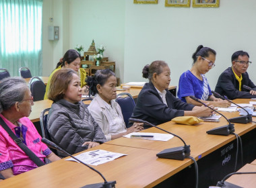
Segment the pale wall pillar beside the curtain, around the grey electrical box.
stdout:
<path fill-rule="evenodd" d="M 53 22 L 49 18 L 53 17 Z M 48 40 L 48 26 L 59 26 L 59 40 Z M 42 6 L 42 76 L 49 76 L 69 50 L 69 0 L 44 0 Z"/>

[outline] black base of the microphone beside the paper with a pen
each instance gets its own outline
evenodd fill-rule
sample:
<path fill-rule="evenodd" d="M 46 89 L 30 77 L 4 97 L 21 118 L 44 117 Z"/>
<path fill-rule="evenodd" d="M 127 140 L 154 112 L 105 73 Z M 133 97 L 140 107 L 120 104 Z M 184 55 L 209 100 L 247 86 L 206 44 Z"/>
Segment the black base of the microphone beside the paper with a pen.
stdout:
<path fill-rule="evenodd" d="M 159 152 L 156 156 L 158 156 L 158 158 L 184 160 L 190 156 L 190 146 L 181 146 L 162 150 L 162 152 Z"/>

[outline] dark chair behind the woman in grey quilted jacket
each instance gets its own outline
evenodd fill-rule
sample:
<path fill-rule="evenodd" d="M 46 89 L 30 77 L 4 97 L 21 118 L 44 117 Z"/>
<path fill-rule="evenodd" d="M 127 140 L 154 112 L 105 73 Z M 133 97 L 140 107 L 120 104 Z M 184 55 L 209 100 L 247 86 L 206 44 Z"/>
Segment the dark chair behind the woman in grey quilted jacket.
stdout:
<path fill-rule="evenodd" d="M 47 122 L 48 122 L 47 118 L 48 118 L 49 109 L 51 109 L 51 108 L 46 108 L 43 111 L 41 111 L 41 113 L 40 113 L 40 126 L 41 126 L 41 130 L 42 130 L 42 138 L 46 138 L 50 141 L 53 141 L 51 139 L 51 136 L 50 136 L 48 128 L 47 128 Z M 55 154 L 57 154 L 57 151 L 55 149 L 51 148 L 51 150 Z"/>

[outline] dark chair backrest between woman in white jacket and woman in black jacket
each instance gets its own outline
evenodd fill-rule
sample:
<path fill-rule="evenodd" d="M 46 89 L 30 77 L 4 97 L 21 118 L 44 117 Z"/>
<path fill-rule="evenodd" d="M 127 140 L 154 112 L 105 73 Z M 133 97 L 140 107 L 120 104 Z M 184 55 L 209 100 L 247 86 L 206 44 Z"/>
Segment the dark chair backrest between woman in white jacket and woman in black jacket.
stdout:
<path fill-rule="evenodd" d="M 127 97 L 123 97 L 122 95 L 127 95 Z M 133 109 L 135 107 L 135 102 L 130 93 L 119 93 L 116 99 L 117 103 L 119 103 L 122 113 L 123 120 L 125 121 L 125 126 L 129 128 L 129 118 L 131 118 L 131 114 L 133 113 Z"/>

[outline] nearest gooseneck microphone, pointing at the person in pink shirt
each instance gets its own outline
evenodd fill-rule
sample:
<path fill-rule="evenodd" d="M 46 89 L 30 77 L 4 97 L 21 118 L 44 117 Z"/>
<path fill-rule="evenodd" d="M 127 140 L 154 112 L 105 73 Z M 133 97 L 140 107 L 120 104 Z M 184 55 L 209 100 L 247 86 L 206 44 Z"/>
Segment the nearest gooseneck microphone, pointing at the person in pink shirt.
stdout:
<path fill-rule="evenodd" d="M 97 171 L 93 167 L 90 167 L 88 164 L 82 162 L 81 160 L 79 160 L 75 156 L 72 156 L 71 154 L 69 154 L 68 152 L 63 150 L 63 148 L 57 146 L 57 144 L 51 142 L 50 140 L 48 140 L 46 138 L 42 138 L 41 141 L 44 142 L 44 144 L 46 144 L 47 146 L 49 146 L 51 148 L 54 148 L 56 150 L 59 150 L 59 151 L 65 153 L 65 154 L 67 154 L 68 156 L 71 156 L 72 158 L 75 158 L 75 160 L 81 162 L 82 164 L 86 165 L 86 167 L 89 167 L 90 169 L 92 169 L 92 171 L 95 171 L 96 173 L 98 173 L 102 177 L 102 179 L 104 180 L 104 183 L 94 183 L 94 184 L 86 185 L 86 186 L 84 186 L 84 188 L 115 188 L 115 184 L 117 183 L 116 181 L 106 181 L 105 177 L 99 171 Z"/>

